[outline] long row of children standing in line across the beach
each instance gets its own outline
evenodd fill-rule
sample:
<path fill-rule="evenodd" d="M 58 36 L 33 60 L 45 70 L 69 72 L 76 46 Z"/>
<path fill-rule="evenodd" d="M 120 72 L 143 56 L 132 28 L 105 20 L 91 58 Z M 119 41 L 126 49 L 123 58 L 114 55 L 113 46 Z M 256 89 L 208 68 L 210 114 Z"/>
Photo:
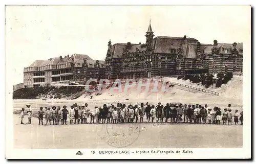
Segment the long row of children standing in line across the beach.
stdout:
<path fill-rule="evenodd" d="M 32 108 L 30 105 L 27 105 L 28 110 L 28 118 L 29 124 L 31 124 L 31 116 L 32 116 Z M 44 125 L 44 115 L 46 124 L 51 125 L 51 121 L 53 125 L 59 125 L 59 121 L 61 121 L 61 125 L 66 124 L 69 119 L 70 124 L 87 124 L 87 119 L 90 118 L 90 123 L 137 123 L 140 118 L 140 123 L 143 123 L 144 115 L 146 115 L 146 122 L 154 122 L 156 118 L 156 123 L 163 123 L 163 119 L 165 118 L 165 122 L 168 122 L 170 119 L 170 123 L 181 123 L 182 116 L 185 123 L 194 123 L 194 124 L 206 124 L 208 120 L 208 124 L 220 124 L 220 121 L 223 121 L 223 125 L 232 124 L 232 120 L 235 125 L 238 124 L 239 120 L 241 121 L 241 125 L 243 125 L 243 111 L 238 113 L 238 110 L 235 110 L 234 114 L 231 113 L 231 105 L 228 104 L 228 107 L 224 109 L 224 112 L 221 112 L 219 107 L 214 107 L 214 110 L 208 108 L 208 105 L 182 105 L 182 104 L 174 104 L 167 103 L 165 106 L 158 103 L 158 105 L 150 105 L 146 103 L 145 106 L 143 103 L 140 105 L 132 105 L 129 104 L 127 107 L 125 104 L 117 103 L 117 105 L 103 105 L 103 107 L 95 106 L 94 109 L 89 109 L 88 104 L 84 104 L 84 106 L 79 106 L 77 103 L 72 105 L 70 109 L 67 109 L 67 106 L 64 105 L 61 109 L 60 107 L 53 106 L 52 108 L 46 107 L 44 111 L 42 107 L 40 107 L 38 111 L 38 120 L 39 125 Z M 21 124 L 23 124 L 23 118 L 25 109 L 22 108 L 21 112 Z M 240 116 L 240 118 L 239 118 Z"/>

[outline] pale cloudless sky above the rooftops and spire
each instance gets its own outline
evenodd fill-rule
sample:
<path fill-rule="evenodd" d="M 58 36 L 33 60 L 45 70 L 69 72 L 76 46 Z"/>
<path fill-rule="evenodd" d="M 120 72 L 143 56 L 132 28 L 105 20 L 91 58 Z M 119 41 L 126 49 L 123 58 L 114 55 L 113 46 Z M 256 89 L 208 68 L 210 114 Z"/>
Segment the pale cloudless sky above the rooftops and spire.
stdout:
<path fill-rule="evenodd" d="M 8 6 L 12 83 L 23 82 L 23 68 L 34 60 L 74 53 L 104 60 L 109 39 L 144 43 L 150 17 L 155 36 L 187 35 L 201 43 L 244 42 L 250 36 L 249 6 Z"/>

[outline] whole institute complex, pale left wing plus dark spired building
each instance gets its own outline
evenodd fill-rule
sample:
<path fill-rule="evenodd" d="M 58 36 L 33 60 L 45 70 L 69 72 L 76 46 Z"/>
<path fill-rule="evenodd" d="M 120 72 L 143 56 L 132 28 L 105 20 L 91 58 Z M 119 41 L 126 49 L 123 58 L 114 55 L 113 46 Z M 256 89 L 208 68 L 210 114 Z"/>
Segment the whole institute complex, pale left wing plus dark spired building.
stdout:
<path fill-rule="evenodd" d="M 154 37 L 151 24 L 145 43 L 108 44 L 105 61 L 74 54 L 49 60 L 36 60 L 24 68 L 24 86 L 49 86 L 54 83 L 106 78 L 151 78 L 202 73 L 243 72 L 243 44 L 203 44 L 183 37 Z"/>

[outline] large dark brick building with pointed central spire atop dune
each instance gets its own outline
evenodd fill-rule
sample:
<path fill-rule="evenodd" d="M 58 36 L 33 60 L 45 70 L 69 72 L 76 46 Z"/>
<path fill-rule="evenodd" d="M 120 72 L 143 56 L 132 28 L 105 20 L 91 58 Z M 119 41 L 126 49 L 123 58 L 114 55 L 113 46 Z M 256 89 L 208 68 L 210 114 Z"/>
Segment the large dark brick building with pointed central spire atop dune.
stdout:
<path fill-rule="evenodd" d="M 201 44 L 197 39 L 154 37 L 148 26 L 145 43 L 115 43 L 111 40 L 105 58 L 109 80 L 150 78 L 202 73 L 242 72 L 243 44 Z"/>

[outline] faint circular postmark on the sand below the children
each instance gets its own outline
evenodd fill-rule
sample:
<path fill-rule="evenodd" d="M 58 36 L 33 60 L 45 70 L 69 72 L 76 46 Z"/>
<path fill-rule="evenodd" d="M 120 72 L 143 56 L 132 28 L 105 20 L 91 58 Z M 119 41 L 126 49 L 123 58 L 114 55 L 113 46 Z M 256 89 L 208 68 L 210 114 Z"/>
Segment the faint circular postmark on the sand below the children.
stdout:
<path fill-rule="evenodd" d="M 106 125 L 106 143 L 122 148 L 133 144 L 140 134 L 140 124 Z"/>

